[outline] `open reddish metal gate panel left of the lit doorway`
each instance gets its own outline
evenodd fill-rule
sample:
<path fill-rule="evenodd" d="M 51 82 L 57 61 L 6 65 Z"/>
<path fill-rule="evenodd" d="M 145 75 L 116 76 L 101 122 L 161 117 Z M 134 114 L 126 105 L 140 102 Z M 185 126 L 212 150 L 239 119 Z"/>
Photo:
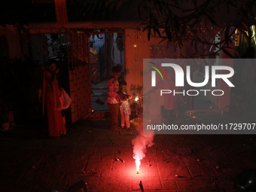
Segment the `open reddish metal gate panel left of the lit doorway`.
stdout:
<path fill-rule="evenodd" d="M 92 111 L 89 34 L 74 30 L 67 35 L 72 123 Z"/>

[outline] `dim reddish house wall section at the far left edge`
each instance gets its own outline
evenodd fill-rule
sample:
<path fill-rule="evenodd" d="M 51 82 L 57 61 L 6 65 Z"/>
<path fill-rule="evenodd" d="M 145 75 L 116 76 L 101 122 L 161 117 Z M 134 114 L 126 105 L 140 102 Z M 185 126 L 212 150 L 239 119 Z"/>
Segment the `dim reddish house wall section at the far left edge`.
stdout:
<path fill-rule="evenodd" d="M 10 59 L 20 58 L 20 35 L 19 29 L 13 25 L 0 26 L 0 35 L 8 39 L 8 53 Z"/>

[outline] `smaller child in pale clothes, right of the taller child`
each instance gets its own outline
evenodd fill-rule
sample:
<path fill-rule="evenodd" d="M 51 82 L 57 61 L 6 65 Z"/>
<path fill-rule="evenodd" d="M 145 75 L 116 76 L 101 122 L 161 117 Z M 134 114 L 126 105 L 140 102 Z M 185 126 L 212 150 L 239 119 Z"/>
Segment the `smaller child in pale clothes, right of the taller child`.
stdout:
<path fill-rule="evenodd" d="M 125 94 L 126 91 L 126 81 L 119 81 L 120 86 L 120 92 Z M 121 114 L 121 128 L 124 128 L 124 122 L 126 124 L 126 129 L 130 129 L 130 106 L 129 106 L 129 99 L 126 99 L 125 101 L 120 101 L 120 114 Z"/>

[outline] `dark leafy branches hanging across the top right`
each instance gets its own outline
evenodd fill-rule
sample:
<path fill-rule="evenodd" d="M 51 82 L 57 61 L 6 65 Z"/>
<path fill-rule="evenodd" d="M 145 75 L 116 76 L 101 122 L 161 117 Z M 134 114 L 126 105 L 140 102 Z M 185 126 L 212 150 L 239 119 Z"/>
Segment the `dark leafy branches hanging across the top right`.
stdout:
<path fill-rule="evenodd" d="M 126 2 L 126 0 L 109 1 L 116 2 L 118 5 L 120 5 L 120 2 Z M 232 34 L 241 24 L 248 32 L 248 35 L 242 29 L 239 29 L 240 34 L 245 36 L 248 46 L 251 46 L 251 29 L 245 24 L 245 19 L 256 21 L 253 11 L 256 7 L 256 0 L 136 1 L 139 2 L 138 17 L 139 20 L 144 21 L 143 31 L 148 32 L 148 41 L 154 36 L 160 38 L 160 42 L 165 41 L 166 44 L 175 44 L 180 48 L 184 46 L 185 41 L 190 41 L 194 50 L 198 51 L 192 56 L 203 56 L 203 53 L 210 56 L 217 53 L 202 51 L 202 48 L 197 47 L 200 44 L 201 47 L 207 47 L 208 49 L 210 44 L 213 47 L 212 50 L 219 47 L 218 51 L 223 50 L 224 53 L 231 57 L 232 54 L 228 50 L 230 50 L 230 44 L 233 44 Z M 230 13 L 227 17 L 236 18 L 236 25 L 225 23 L 226 18 L 220 20 L 218 16 L 224 11 L 225 13 Z M 226 30 L 222 30 L 225 28 Z M 160 29 L 163 30 L 160 31 Z M 221 32 L 222 35 L 219 37 L 218 42 L 212 38 L 217 32 Z"/>

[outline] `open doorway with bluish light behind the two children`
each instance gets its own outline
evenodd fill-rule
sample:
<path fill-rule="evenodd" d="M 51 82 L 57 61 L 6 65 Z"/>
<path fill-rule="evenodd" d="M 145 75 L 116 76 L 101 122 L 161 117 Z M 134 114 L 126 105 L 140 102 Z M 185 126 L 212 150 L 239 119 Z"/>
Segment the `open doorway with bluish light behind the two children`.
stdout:
<path fill-rule="evenodd" d="M 124 73 L 124 33 L 97 33 L 90 35 L 90 71 L 93 111 L 108 111 L 105 102 L 111 68 L 119 65 Z M 122 75 L 120 78 L 123 78 Z"/>

